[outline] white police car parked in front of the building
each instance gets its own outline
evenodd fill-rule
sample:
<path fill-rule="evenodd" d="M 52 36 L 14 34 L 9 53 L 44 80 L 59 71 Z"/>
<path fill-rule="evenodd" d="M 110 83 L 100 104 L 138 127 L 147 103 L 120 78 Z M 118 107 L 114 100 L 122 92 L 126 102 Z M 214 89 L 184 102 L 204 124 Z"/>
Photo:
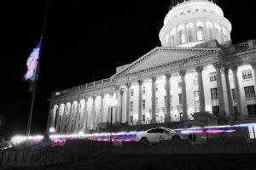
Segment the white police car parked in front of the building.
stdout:
<path fill-rule="evenodd" d="M 137 133 L 136 140 L 159 143 L 160 140 L 180 140 L 189 139 L 189 134 L 178 133 L 167 127 L 156 127 L 145 131 L 144 133 Z"/>

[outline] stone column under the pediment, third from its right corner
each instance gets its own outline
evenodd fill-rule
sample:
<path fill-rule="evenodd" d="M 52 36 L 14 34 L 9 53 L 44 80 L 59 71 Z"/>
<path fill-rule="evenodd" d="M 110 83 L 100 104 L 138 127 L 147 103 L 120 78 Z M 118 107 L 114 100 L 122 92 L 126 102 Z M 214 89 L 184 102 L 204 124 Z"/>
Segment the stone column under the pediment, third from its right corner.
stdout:
<path fill-rule="evenodd" d="M 183 97 L 183 117 L 181 118 L 182 121 L 188 121 L 188 110 L 187 110 L 187 90 L 186 90 L 186 71 L 178 71 L 181 76 L 181 83 L 182 83 L 182 97 Z"/>

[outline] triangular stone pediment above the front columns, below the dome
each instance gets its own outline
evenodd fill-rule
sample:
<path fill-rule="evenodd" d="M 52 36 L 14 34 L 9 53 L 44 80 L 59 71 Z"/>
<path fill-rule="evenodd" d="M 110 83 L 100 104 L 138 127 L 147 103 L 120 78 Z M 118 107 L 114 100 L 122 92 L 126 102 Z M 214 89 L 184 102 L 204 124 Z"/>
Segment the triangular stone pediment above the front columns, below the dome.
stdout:
<path fill-rule="evenodd" d="M 117 72 L 113 77 L 147 70 L 157 65 L 164 65 L 201 54 L 216 53 L 218 50 L 219 48 L 154 48 L 148 54 L 131 63 L 129 67 Z"/>

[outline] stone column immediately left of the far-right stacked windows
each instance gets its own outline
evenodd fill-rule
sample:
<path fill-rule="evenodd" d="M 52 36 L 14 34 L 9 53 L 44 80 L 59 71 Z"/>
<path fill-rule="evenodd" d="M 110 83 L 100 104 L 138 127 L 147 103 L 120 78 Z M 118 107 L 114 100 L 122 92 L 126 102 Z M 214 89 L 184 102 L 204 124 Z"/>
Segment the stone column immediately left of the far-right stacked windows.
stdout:
<path fill-rule="evenodd" d="M 238 76 L 237 76 L 237 66 L 234 66 L 232 68 L 233 71 L 233 76 L 234 76 L 234 84 L 235 84 L 235 92 L 236 92 L 236 107 L 237 107 L 237 115 L 236 119 L 242 120 L 242 105 L 241 105 L 241 92 L 240 92 L 240 87 L 239 87 L 239 82 L 238 82 Z"/>

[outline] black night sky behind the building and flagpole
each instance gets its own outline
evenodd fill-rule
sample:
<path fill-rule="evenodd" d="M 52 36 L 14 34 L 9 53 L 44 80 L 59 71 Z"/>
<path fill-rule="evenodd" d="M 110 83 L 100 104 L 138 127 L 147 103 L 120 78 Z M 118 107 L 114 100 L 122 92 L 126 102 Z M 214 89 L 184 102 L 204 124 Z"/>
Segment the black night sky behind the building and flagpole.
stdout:
<path fill-rule="evenodd" d="M 23 77 L 42 32 L 46 0 L 3 2 L 0 136 L 9 138 L 26 134 L 31 94 Z M 49 2 L 32 134 L 45 132 L 51 92 L 111 77 L 117 66 L 160 47 L 159 31 L 171 0 L 92 2 Z M 234 44 L 256 39 L 253 1 L 216 2 L 233 26 Z"/>

